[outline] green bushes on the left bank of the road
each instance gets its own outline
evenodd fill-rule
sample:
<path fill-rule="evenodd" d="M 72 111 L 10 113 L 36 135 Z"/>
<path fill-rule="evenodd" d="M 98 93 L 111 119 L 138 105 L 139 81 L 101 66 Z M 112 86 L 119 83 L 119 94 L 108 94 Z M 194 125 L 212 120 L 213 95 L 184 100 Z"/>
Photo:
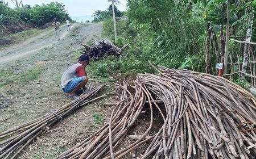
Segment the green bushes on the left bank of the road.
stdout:
<path fill-rule="evenodd" d="M 16 1 L 17 2 L 17 1 Z M 49 26 L 53 18 L 59 19 L 60 22 L 65 21 L 68 16 L 65 6 L 61 3 L 51 2 L 47 5 L 16 5 L 15 9 L 11 9 L 8 4 L 0 1 L 0 35 L 13 34 L 32 27 Z"/>

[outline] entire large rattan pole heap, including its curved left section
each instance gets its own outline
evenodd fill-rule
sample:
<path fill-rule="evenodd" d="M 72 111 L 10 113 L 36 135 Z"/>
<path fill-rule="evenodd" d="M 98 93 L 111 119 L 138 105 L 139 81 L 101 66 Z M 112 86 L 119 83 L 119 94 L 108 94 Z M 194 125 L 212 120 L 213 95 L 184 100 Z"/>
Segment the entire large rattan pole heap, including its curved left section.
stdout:
<path fill-rule="evenodd" d="M 159 75 L 139 74 L 133 94 L 126 83 L 120 87 L 109 123 L 57 158 L 122 158 L 143 144 L 141 159 L 256 156 L 256 99 L 225 78 L 161 67 Z M 164 104 L 145 104 L 155 96 Z M 150 110 L 149 127 L 134 143 L 118 148 L 143 107 Z M 164 122 L 146 137 L 154 126 L 153 107 Z"/>

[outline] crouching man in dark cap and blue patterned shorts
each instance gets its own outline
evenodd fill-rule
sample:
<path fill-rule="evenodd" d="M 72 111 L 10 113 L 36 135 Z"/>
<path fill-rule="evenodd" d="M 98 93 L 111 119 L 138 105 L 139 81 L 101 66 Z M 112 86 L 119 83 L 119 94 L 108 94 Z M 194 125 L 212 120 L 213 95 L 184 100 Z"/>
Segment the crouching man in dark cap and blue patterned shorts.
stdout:
<path fill-rule="evenodd" d="M 85 68 L 89 63 L 87 55 L 81 55 L 76 64 L 69 66 L 61 77 L 61 89 L 69 94 L 69 97 L 74 99 L 81 95 L 81 88 L 88 82 L 87 73 Z"/>

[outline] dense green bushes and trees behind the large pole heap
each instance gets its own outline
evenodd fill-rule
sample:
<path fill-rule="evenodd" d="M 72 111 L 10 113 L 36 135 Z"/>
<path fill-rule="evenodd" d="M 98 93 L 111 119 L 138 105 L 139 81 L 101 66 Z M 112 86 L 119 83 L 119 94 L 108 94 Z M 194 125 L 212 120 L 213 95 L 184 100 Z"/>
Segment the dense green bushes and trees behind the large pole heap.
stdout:
<path fill-rule="evenodd" d="M 249 17 L 255 14 L 256 2 L 230 2 L 229 35 L 245 41 Z M 118 39 L 115 44 L 118 47 L 129 44 L 130 47 L 123 53 L 122 61 L 109 58 L 106 59 L 108 64 L 99 65 L 109 67 L 104 70 L 105 75 L 116 68 L 120 73 L 151 72 L 148 60 L 169 68 L 218 74 L 215 67 L 216 63 L 222 62 L 224 55 L 227 5 L 220 0 L 128 0 L 125 18 L 117 20 Z M 254 16 L 251 41 L 256 40 L 255 19 Z M 104 35 L 114 39 L 111 18 L 104 20 Z M 221 38 L 224 39 L 221 41 Z M 228 73 L 238 70 L 235 63 L 242 64 L 243 50 L 241 43 L 229 41 Z M 253 59 L 255 45 L 251 45 L 250 50 L 249 57 Z"/>

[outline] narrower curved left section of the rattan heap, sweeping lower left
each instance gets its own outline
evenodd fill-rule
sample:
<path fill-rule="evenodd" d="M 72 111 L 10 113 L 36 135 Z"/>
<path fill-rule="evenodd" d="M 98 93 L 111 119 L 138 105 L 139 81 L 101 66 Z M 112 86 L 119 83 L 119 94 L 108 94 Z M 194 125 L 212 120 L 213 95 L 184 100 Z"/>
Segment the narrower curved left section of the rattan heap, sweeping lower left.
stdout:
<path fill-rule="evenodd" d="M 133 126 L 146 100 L 142 87 L 137 87 L 134 95 L 127 90 L 126 83 L 120 87 L 123 89 L 121 101 L 113 108 L 110 122 L 57 158 L 103 158 L 106 154 L 114 155 L 113 150 L 117 148 Z M 149 130 L 150 128 L 144 133 L 145 136 Z M 118 154 L 123 156 L 133 149 L 133 145 L 142 144 L 142 142 L 142 140 L 138 140 L 137 143 L 122 149 Z"/>

